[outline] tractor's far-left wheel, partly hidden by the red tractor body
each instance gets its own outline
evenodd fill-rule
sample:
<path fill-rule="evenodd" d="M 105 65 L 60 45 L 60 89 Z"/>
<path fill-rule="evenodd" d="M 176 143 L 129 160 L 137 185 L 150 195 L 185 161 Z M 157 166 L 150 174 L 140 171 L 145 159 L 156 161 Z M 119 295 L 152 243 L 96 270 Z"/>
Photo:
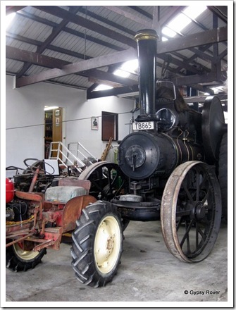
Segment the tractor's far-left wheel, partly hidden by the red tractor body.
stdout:
<path fill-rule="evenodd" d="M 32 242 L 30 242 L 32 243 Z M 39 252 L 32 250 L 25 250 L 23 242 L 18 242 L 11 247 L 6 248 L 6 268 L 11 271 L 27 271 L 35 268 L 37 264 L 41 263 L 42 257 L 46 254 L 46 249 Z"/>

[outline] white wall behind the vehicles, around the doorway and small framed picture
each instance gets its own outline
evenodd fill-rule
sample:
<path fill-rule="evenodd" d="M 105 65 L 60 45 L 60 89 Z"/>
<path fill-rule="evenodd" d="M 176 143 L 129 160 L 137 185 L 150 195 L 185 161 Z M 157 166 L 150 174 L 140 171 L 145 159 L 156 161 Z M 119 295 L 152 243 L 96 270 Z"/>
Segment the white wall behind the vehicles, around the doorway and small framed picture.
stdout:
<path fill-rule="evenodd" d="M 45 82 L 13 89 L 13 77 L 6 75 L 6 167 L 25 168 L 24 159 L 44 158 L 45 105 L 64 108 L 66 146 L 80 142 L 100 158 L 106 147 L 106 142 L 101 141 L 101 111 L 120 113 L 118 139 L 122 140 L 129 133 L 129 125 L 125 124 L 132 117 L 129 112 L 134 101 L 117 97 L 87 101 L 83 90 Z M 99 130 L 91 130 L 92 116 L 99 116 Z"/>

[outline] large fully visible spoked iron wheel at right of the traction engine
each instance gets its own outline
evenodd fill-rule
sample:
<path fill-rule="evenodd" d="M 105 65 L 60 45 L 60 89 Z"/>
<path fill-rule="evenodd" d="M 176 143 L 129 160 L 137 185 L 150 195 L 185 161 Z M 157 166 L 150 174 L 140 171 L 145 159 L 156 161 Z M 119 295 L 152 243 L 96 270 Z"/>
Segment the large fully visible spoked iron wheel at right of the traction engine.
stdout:
<path fill-rule="evenodd" d="M 221 190 L 212 169 L 187 161 L 170 175 L 161 201 L 161 230 L 171 254 L 188 263 L 211 252 L 221 225 Z"/>

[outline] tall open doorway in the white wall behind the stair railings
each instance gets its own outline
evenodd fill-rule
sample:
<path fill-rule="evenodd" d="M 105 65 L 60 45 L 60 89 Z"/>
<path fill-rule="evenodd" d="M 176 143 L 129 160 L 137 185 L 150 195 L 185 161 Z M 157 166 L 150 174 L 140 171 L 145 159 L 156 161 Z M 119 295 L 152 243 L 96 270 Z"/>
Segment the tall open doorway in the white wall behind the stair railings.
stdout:
<path fill-rule="evenodd" d="M 62 108 L 44 110 L 44 159 L 49 159 L 51 142 L 62 142 L 62 113 Z M 56 151 L 53 153 L 56 157 Z"/>

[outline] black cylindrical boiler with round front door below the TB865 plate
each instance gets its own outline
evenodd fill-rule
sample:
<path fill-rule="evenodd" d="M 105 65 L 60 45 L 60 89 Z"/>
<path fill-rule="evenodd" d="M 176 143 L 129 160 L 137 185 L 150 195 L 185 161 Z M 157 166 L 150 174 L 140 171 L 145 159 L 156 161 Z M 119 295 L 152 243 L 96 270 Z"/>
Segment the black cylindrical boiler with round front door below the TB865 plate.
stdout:
<path fill-rule="evenodd" d="M 158 132 L 132 132 L 118 149 L 118 165 L 133 180 L 168 176 L 180 163 L 203 159 L 197 145 Z"/>

